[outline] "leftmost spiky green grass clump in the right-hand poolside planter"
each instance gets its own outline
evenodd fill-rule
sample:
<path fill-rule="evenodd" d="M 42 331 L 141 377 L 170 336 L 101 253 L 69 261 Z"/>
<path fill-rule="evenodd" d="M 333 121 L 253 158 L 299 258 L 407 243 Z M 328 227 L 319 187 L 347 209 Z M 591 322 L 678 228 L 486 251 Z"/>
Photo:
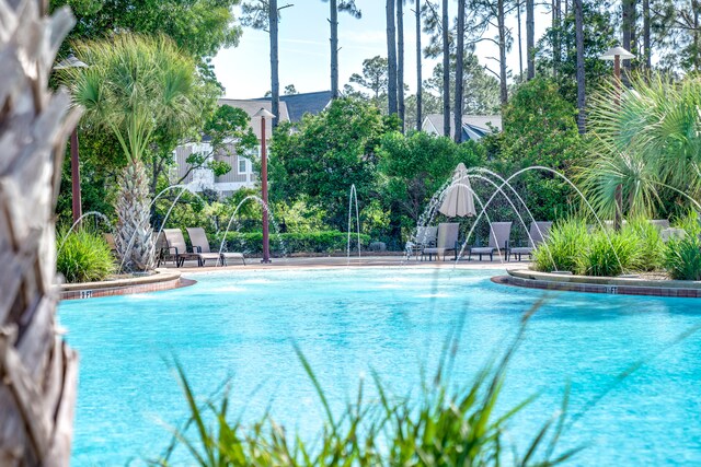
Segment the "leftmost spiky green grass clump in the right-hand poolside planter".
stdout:
<path fill-rule="evenodd" d="M 548 240 L 533 252 L 533 267 L 538 271 L 570 271 L 577 273 L 579 258 L 587 244 L 584 221 L 570 219 L 555 223 Z"/>

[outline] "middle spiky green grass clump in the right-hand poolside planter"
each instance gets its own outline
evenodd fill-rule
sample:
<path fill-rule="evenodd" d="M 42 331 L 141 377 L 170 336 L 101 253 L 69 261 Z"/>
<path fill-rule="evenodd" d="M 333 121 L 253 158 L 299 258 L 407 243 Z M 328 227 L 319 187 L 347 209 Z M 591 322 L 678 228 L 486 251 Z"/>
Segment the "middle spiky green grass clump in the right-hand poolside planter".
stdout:
<path fill-rule="evenodd" d="M 635 231 L 597 230 L 589 234 L 578 260 L 584 276 L 614 277 L 636 270 L 641 261 L 641 238 Z"/>

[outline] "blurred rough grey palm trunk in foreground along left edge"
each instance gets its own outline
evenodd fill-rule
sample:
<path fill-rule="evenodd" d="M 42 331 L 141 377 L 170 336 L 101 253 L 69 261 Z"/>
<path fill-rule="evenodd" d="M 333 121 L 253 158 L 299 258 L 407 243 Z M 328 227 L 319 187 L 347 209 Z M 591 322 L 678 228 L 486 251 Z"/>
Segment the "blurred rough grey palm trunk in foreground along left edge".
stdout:
<path fill-rule="evenodd" d="M 21 9 L 18 3 L 21 3 Z M 51 94 L 67 8 L 0 0 L 0 465 L 68 466 L 78 358 L 56 325 L 54 212 L 78 110 Z"/>

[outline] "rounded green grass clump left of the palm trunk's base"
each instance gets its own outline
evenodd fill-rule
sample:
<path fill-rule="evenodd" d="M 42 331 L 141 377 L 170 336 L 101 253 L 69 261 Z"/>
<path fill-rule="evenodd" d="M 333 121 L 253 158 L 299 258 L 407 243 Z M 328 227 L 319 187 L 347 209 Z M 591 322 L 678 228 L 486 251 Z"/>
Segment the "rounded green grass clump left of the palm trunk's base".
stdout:
<path fill-rule="evenodd" d="M 56 269 L 69 283 L 103 280 L 115 271 L 110 245 L 99 233 L 84 229 L 68 236 L 59 233 L 56 247 L 60 248 Z"/>

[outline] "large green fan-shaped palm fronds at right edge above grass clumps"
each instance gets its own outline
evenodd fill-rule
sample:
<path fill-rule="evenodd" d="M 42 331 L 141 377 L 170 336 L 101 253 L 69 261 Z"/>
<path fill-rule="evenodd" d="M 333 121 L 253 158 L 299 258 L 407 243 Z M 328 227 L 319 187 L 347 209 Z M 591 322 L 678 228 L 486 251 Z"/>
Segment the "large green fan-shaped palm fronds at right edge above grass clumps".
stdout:
<path fill-rule="evenodd" d="M 621 93 L 610 83 L 593 98 L 591 155 L 581 172 L 586 195 L 608 217 L 619 184 L 629 215 L 653 214 L 659 190 L 699 201 L 701 79 L 641 74 L 631 85 Z"/>

